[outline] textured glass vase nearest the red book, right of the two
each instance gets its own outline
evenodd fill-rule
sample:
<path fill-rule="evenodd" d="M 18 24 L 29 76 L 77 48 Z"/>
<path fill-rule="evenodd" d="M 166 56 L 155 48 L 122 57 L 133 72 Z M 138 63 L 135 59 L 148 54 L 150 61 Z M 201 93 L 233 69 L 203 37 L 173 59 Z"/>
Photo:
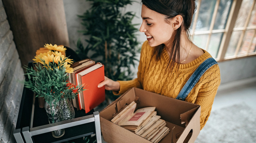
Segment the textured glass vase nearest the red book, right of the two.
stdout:
<path fill-rule="evenodd" d="M 62 98 L 59 104 L 62 120 L 69 120 L 75 118 L 74 107 L 68 98 Z"/>

